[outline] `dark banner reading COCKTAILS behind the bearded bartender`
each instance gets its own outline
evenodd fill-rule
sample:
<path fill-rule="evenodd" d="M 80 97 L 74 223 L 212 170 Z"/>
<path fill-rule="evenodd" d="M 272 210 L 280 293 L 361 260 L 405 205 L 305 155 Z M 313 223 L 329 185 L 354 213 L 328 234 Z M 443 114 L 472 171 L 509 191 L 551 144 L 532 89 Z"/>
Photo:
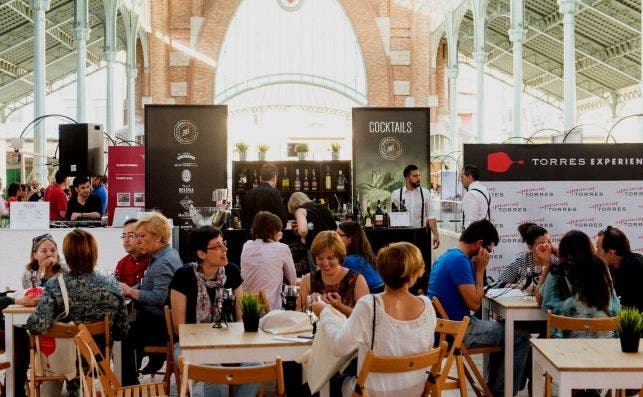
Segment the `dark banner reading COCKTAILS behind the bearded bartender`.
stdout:
<path fill-rule="evenodd" d="M 427 187 L 428 142 L 429 108 L 353 108 L 353 193 L 362 203 L 367 196 L 371 211 L 377 200 L 387 205 L 409 164 L 420 168 Z"/>

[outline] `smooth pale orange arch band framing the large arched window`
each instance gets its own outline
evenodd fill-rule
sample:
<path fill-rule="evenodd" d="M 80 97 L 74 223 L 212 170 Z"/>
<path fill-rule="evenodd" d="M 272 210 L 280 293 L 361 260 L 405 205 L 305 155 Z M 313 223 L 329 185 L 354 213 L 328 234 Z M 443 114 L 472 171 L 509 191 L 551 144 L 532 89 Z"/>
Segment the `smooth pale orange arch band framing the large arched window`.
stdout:
<path fill-rule="evenodd" d="M 375 11 L 368 0 L 341 0 L 353 25 L 357 42 L 364 57 L 368 82 L 368 106 L 392 106 L 391 65 L 384 51 Z M 239 6 L 239 0 L 215 0 L 205 12 L 196 51 L 217 60 L 228 25 Z M 192 58 L 188 69 L 188 103 L 214 103 L 216 68 Z"/>

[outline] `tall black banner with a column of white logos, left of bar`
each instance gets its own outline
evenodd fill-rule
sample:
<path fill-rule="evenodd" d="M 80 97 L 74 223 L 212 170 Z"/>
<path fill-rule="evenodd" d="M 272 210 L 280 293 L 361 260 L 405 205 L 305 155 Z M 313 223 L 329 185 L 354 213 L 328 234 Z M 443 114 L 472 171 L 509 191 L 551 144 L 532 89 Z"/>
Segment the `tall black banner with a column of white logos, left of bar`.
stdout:
<path fill-rule="evenodd" d="M 227 123 L 226 105 L 145 106 L 145 207 L 172 218 L 181 243 L 190 205 L 212 207 L 214 189 L 226 187 Z"/>

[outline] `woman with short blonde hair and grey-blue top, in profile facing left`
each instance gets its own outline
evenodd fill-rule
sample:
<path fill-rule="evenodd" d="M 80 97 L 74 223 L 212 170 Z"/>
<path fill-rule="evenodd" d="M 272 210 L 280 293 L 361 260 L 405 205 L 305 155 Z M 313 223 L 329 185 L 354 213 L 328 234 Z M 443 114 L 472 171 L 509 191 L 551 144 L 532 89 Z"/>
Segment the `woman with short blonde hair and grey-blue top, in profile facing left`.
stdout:
<path fill-rule="evenodd" d="M 136 223 L 136 237 L 141 254 L 149 255 L 151 260 L 137 288 L 119 283 L 123 295 L 131 298 L 136 308 L 136 320 L 130 324 L 130 332 L 123 342 L 124 385 L 139 383 L 138 368 L 145 346 L 163 346 L 167 343 L 163 306 L 174 272 L 183 265 L 178 251 L 170 246 L 170 224 L 162 214 L 151 212 L 139 220 Z M 165 355 L 150 355 L 141 373 L 158 371 L 164 361 Z"/>

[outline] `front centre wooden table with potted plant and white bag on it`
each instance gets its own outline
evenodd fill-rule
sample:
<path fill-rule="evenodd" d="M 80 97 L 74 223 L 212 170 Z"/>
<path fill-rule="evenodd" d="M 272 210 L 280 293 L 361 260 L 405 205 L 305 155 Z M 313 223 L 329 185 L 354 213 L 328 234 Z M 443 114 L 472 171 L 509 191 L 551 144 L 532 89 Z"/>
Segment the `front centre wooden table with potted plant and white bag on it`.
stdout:
<path fill-rule="evenodd" d="M 300 333 L 308 334 L 310 333 Z M 296 336 L 288 334 L 282 336 Z M 179 346 L 188 361 L 200 364 L 271 362 L 280 356 L 284 361 L 299 359 L 310 348 L 312 340 L 302 342 L 275 339 L 261 329 L 244 332 L 243 323 L 229 323 L 227 328 L 212 328 L 211 323 L 180 324 Z"/>

